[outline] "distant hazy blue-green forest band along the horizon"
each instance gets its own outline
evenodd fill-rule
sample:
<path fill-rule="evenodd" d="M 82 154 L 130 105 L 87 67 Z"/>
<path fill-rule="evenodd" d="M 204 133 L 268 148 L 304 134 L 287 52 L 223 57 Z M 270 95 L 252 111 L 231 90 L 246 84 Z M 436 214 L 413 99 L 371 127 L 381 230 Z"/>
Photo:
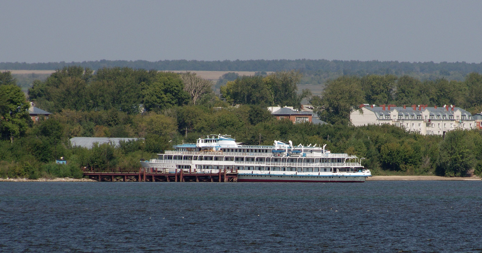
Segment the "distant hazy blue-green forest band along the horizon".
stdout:
<path fill-rule="evenodd" d="M 112 67 L 129 67 L 134 69 L 155 70 L 206 70 L 206 71 L 281 71 L 297 69 L 308 72 L 330 72 L 340 75 L 393 74 L 397 76 L 413 73 L 437 73 L 450 76 L 451 73 L 467 75 L 470 72 L 482 72 L 482 63 L 433 63 L 433 62 L 398 62 L 398 61 L 339 61 L 339 60 L 235 60 L 235 61 L 197 61 L 197 60 L 163 60 L 148 61 L 84 61 L 58 63 L 0 63 L 0 69 L 53 70 L 66 66 L 101 69 Z M 311 75 L 312 73 L 310 73 Z"/>

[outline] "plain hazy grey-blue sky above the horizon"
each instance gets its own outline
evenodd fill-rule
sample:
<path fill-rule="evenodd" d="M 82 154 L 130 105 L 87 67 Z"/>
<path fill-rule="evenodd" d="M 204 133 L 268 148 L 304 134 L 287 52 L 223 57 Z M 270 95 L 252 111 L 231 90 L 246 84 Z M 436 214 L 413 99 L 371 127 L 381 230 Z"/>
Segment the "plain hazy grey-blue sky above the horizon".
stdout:
<path fill-rule="evenodd" d="M 482 62 L 482 1 L 2 0 L 0 62 Z"/>

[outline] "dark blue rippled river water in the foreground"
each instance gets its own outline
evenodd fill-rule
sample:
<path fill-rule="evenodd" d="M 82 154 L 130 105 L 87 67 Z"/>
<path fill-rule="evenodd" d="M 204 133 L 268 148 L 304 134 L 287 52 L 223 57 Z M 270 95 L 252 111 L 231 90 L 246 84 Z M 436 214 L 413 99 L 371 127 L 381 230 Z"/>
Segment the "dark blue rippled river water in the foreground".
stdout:
<path fill-rule="evenodd" d="M 0 252 L 482 252 L 482 181 L 0 182 Z"/>

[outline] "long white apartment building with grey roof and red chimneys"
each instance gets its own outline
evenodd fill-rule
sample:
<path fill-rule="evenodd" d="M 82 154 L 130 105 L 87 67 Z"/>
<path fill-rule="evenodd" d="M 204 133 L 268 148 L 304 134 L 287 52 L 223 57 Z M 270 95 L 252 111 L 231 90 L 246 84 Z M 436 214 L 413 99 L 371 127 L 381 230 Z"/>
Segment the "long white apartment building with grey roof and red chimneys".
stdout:
<path fill-rule="evenodd" d="M 472 114 L 453 105 L 428 107 L 414 104 L 407 107 L 362 104 L 350 113 L 350 121 L 354 126 L 391 124 L 423 135 L 442 135 L 454 129 L 476 127 Z"/>

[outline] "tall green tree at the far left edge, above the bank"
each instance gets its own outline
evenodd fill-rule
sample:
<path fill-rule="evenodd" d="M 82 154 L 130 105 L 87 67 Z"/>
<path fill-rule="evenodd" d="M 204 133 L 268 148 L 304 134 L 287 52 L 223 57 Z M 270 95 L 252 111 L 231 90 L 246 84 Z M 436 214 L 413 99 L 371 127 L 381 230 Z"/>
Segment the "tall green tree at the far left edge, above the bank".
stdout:
<path fill-rule="evenodd" d="M 29 104 L 20 87 L 13 84 L 0 85 L 0 133 L 1 138 L 20 137 L 25 134 L 32 120 L 28 116 Z"/>

